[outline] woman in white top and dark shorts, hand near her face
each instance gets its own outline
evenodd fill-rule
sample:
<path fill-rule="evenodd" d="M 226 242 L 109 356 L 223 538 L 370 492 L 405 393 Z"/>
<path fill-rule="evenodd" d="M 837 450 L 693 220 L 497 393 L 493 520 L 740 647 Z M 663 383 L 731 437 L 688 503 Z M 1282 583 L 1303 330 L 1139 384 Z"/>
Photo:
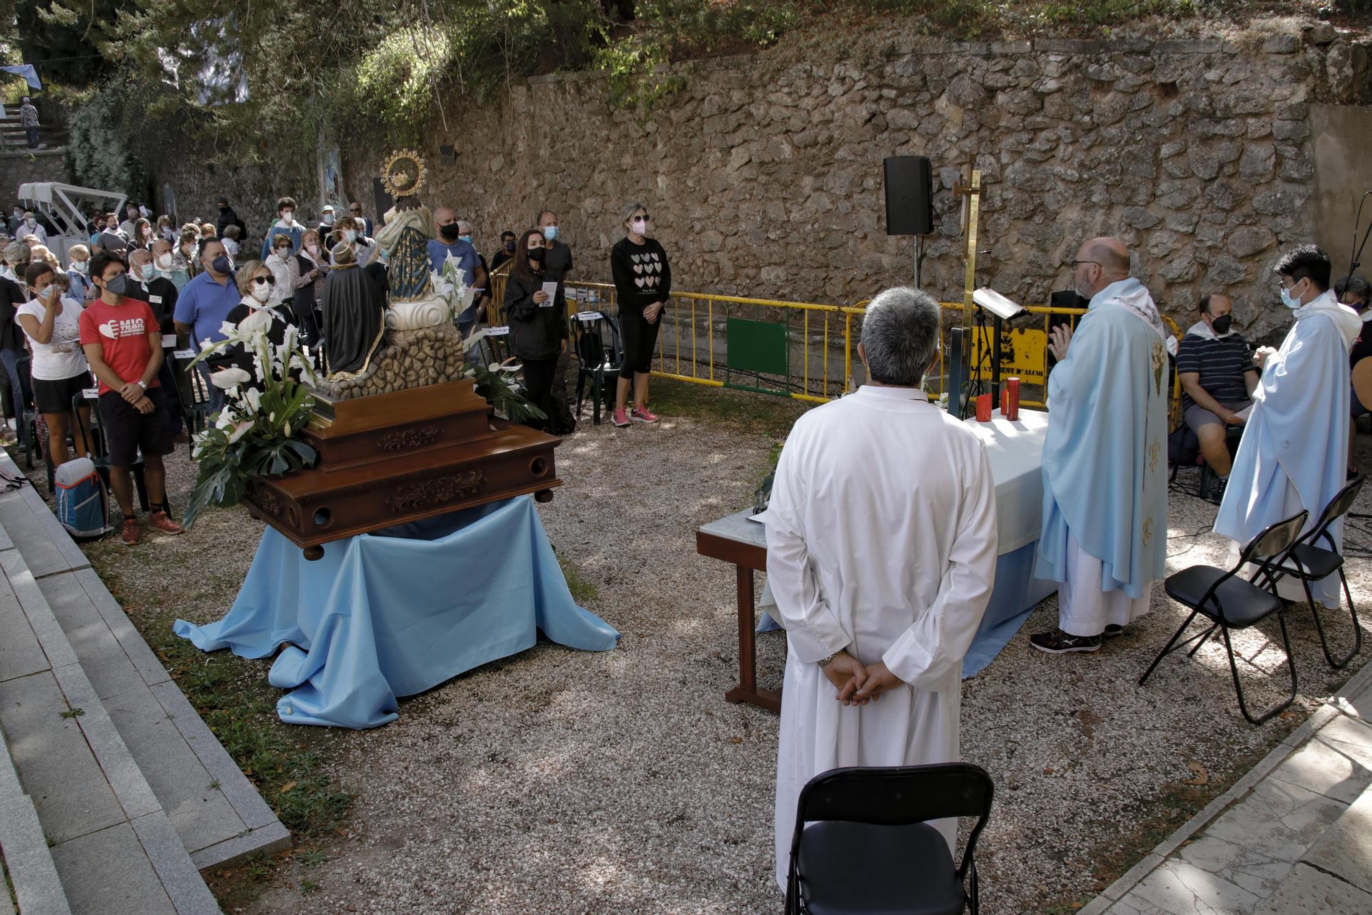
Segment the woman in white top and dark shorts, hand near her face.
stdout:
<path fill-rule="evenodd" d="M 19 306 L 16 320 L 29 337 L 33 403 L 48 425 L 52 466 L 59 467 L 71 460 L 67 452 L 69 427 L 77 455 L 88 452 L 81 430 L 91 423 L 91 408 L 81 407 L 81 422 L 70 422 L 71 398 L 93 387 L 81 349 L 81 305 L 62 298 L 58 275 L 47 264 L 30 264 L 23 279 L 33 298 Z"/>

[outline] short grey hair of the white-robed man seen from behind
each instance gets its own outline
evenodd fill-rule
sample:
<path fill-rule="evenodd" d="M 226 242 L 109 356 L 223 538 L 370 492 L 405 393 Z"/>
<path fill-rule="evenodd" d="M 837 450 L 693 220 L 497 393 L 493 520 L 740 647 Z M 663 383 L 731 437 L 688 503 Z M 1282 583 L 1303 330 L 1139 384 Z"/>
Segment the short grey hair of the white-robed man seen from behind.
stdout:
<path fill-rule="evenodd" d="M 938 302 L 929 293 L 896 286 L 867 305 L 862 343 L 873 381 L 918 387 L 938 352 Z"/>

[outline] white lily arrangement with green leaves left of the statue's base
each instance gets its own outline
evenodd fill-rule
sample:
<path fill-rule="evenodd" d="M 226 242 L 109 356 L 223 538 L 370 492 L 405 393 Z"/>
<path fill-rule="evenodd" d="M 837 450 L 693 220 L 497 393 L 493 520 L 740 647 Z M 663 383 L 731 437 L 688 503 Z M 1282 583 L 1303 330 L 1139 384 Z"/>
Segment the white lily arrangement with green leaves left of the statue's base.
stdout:
<path fill-rule="evenodd" d="M 299 332 L 287 326 L 281 345 L 268 339 L 272 315 L 254 310 L 237 326 L 225 321 L 222 341 L 206 341 L 195 363 L 241 345 L 252 357 L 252 372 L 230 365 L 210 375 L 224 390 L 224 409 L 214 425 L 196 433 L 192 456 L 200 473 L 185 510 L 189 528 L 210 506 L 235 506 L 254 477 L 279 477 L 311 467 L 317 455 L 298 437 L 309 422 L 314 397 L 309 385 L 317 375 Z"/>

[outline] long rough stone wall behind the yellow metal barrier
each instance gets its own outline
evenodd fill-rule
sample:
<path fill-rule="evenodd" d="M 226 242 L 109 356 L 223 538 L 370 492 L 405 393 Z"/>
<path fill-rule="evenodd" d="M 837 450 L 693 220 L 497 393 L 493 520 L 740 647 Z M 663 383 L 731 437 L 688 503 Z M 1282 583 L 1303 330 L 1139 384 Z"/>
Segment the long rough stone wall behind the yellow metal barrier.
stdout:
<path fill-rule="evenodd" d="M 460 126 L 421 150 L 424 196 L 457 207 L 487 251 L 557 210 L 587 280 L 609 279 L 620 206 L 638 199 L 678 289 L 853 302 L 911 280 L 911 239 L 885 235 L 882 158 L 927 155 L 923 282 L 958 300 L 951 185 L 974 158 L 978 283 L 1045 302 L 1080 240 L 1114 234 L 1183 327 L 1202 290 L 1224 290 L 1262 335 L 1284 319 L 1265 276 L 1276 250 L 1313 238 L 1310 104 L 1372 102 L 1368 56 L 1325 23 L 1288 21 L 1162 40 L 844 36 L 685 65 L 685 89 L 643 122 L 612 110 L 595 74 L 534 78 L 447 114 Z M 447 143 L 456 165 L 439 159 Z M 370 198 L 383 152 L 344 162 L 355 198 Z"/>

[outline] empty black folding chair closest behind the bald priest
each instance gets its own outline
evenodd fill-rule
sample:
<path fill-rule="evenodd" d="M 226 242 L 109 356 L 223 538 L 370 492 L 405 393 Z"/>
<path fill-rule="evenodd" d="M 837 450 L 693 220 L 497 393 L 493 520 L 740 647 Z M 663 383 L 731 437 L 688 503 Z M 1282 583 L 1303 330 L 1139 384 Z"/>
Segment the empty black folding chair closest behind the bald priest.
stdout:
<path fill-rule="evenodd" d="M 1281 599 L 1276 595 L 1276 576 L 1279 565 L 1290 555 L 1291 545 L 1295 543 L 1297 536 L 1299 536 L 1301 528 L 1305 526 L 1306 518 L 1309 518 L 1309 512 L 1302 511 L 1286 521 L 1279 521 L 1259 533 L 1243 548 L 1239 562 L 1232 569 L 1191 566 L 1173 576 L 1168 576 L 1168 596 L 1177 603 L 1191 607 L 1191 615 L 1187 617 L 1181 628 L 1176 631 L 1162 651 L 1158 653 L 1158 657 L 1152 659 L 1144 675 L 1139 677 L 1139 686 L 1143 686 L 1143 681 L 1148 679 L 1148 675 L 1152 673 L 1162 658 L 1173 651 L 1180 651 L 1194 642 L 1195 647 L 1187 653 L 1187 657 L 1192 657 L 1206 643 L 1206 639 L 1216 629 L 1220 629 L 1221 635 L 1224 635 L 1224 648 L 1229 654 L 1229 673 L 1233 675 L 1233 690 L 1239 694 L 1239 710 L 1243 712 L 1243 717 L 1253 724 L 1262 724 L 1284 712 L 1295 701 L 1297 683 L 1295 661 L 1291 658 L 1291 639 L 1287 636 L 1286 617 L 1281 613 Z M 1257 566 L 1253 581 L 1246 581 L 1239 576 L 1239 570 L 1249 563 Z M 1239 665 L 1233 659 L 1233 644 L 1229 642 L 1229 631 L 1247 629 L 1262 622 L 1273 613 L 1277 614 L 1277 622 L 1281 624 L 1281 644 L 1286 648 L 1287 668 L 1291 672 L 1291 695 L 1255 719 L 1243 701 L 1243 684 L 1239 683 Z M 1210 628 L 1199 636 L 1192 636 L 1179 643 L 1177 639 L 1187 631 L 1191 621 L 1196 618 L 1196 614 L 1210 620 Z"/>

